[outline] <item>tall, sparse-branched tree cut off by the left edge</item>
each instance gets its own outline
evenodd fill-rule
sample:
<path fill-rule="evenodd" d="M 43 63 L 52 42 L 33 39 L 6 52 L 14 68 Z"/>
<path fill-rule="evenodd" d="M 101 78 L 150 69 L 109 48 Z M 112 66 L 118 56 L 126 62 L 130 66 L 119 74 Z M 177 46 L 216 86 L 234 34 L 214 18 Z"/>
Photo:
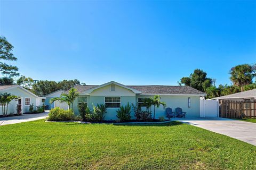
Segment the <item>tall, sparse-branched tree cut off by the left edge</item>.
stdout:
<path fill-rule="evenodd" d="M 2 75 L 8 77 L 18 76 L 18 67 L 4 63 L 3 61 L 17 61 L 12 53 L 13 46 L 6 40 L 5 37 L 0 36 L 0 71 Z"/>

